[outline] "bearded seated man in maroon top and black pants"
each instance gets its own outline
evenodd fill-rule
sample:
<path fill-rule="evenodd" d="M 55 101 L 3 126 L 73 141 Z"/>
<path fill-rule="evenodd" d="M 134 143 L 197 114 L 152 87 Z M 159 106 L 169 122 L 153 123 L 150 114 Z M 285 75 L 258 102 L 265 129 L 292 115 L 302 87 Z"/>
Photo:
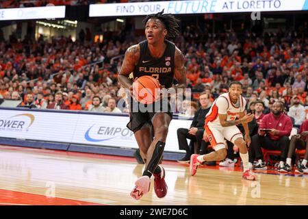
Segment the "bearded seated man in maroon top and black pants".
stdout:
<path fill-rule="evenodd" d="M 267 114 L 262 119 L 259 133 L 251 139 L 251 150 L 254 150 L 255 157 L 251 155 L 249 162 L 253 164 L 254 159 L 257 159 L 255 170 L 265 170 L 267 168 L 261 148 L 281 151 L 278 170 L 284 167 L 290 144 L 289 136 L 292 131 L 292 121 L 289 116 L 283 114 L 283 109 L 283 103 L 275 102 L 271 107 L 270 114 Z M 270 131 L 264 131 L 264 129 L 270 129 Z"/>

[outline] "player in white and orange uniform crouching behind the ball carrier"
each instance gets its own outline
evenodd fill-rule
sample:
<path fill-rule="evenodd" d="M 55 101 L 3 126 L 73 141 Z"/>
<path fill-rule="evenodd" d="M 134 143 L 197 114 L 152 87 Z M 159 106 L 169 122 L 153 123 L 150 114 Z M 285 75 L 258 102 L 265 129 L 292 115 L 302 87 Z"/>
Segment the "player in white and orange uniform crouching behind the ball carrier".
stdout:
<path fill-rule="evenodd" d="M 220 161 L 227 156 L 226 138 L 240 149 L 240 157 L 243 162 L 243 179 L 255 180 L 255 175 L 248 168 L 247 146 L 251 144 L 249 129 L 247 123 L 251 122 L 254 114 L 245 114 L 246 101 L 242 97 L 242 83 L 233 81 L 230 83 L 229 92 L 221 94 L 211 105 L 207 116 L 205 117 L 205 132 L 203 138 L 209 140 L 215 151 L 207 155 L 192 155 L 190 157 L 190 173 L 196 174 L 198 165 L 203 162 Z M 235 120 L 235 118 L 239 118 Z M 236 125 L 241 124 L 245 130 L 243 138 L 240 129 Z M 245 140 L 244 140 L 245 139 Z"/>

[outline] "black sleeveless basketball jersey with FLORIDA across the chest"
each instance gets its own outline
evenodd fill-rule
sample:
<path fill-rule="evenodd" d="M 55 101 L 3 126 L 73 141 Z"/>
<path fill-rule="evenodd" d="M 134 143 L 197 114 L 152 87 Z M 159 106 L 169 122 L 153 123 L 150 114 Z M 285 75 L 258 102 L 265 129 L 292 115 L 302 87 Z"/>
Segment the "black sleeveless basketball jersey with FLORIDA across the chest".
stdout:
<path fill-rule="evenodd" d="M 140 45 L 139 62 L 133 70 L 133 79 L 149 75 L 158 79 L 159 83 L 165 88 L 172 87 L 175 71 L 175 44 L 165 40 L 166 49 L 164 55 L 159 58 L 151 56 L 148 41 L 144 40 Z"/>

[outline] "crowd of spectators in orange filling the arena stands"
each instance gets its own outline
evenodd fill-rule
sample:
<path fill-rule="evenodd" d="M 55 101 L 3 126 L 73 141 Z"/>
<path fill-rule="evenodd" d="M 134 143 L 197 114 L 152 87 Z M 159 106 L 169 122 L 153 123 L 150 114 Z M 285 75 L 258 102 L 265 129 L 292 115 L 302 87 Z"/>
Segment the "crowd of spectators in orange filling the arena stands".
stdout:
<path fill-rule="evenodd" d="M 175 40 L 185 55 L 188 88 L 194 101 L 180 103 L 178 112 L 193 116 L 198 108 L 198 94 L 205 91 L 214 101 L 227 91 L 230 81 L 240 81 L 248 105 L 260 99 L 264 112 L 269 112 L 274 101 L 282 101 L 285 110 L 294 117 L 295 125 L 300 125 L 303 114 L 297 112 L 308 105 L 308 38 L 299 33 L 281 32 L 263 38 L 247 36 L 242 41 L 231 31 L 196 43 L 198 34 L 191 34 L 192 31 L 184 29 Z M 54 101 L 55 93 L 62 92 L 65 103 L 72 105 L 71 110 L 80 109 L 73 105 L 88 110 L 93 96 L 99 96 L 104 107 L 108 101 L 105 96 L 116 101 L 122 98 L 125 92 L 120 89 L 117 74 L 123 55 L 129 46 L 144 38 L 140 36 L 128 42 L 106 34 L 104 42 L 96 43 L 88 37 L 79 38 L 76 42 L 63 36 L 51 40 L 42 36 L 38 40 L 29 37 L 17 40 L 12 34 L 10 40 L 4 40 L 0 31 L 2 98 L 11 99 L 14 92 L 14 98 L 18 93 L 26 103 L 27 94 L 31 93 L 34 105 L 44 108 L 46 104 L 42 102 L 48 105 Z M 298 103 L 296 99 L 302 107 L 292 107 Z"/>

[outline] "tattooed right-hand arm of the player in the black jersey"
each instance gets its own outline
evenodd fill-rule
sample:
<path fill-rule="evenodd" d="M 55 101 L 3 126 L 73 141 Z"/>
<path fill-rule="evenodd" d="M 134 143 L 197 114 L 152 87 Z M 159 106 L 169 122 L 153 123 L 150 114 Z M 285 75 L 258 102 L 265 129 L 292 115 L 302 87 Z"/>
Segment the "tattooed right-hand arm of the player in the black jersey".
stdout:
<path fill-rule="evenodd" d="M 186 88 L 185 58 L 177 47 L 175 47 L 175 78 L 178 81 L 175 88 Z"/>

